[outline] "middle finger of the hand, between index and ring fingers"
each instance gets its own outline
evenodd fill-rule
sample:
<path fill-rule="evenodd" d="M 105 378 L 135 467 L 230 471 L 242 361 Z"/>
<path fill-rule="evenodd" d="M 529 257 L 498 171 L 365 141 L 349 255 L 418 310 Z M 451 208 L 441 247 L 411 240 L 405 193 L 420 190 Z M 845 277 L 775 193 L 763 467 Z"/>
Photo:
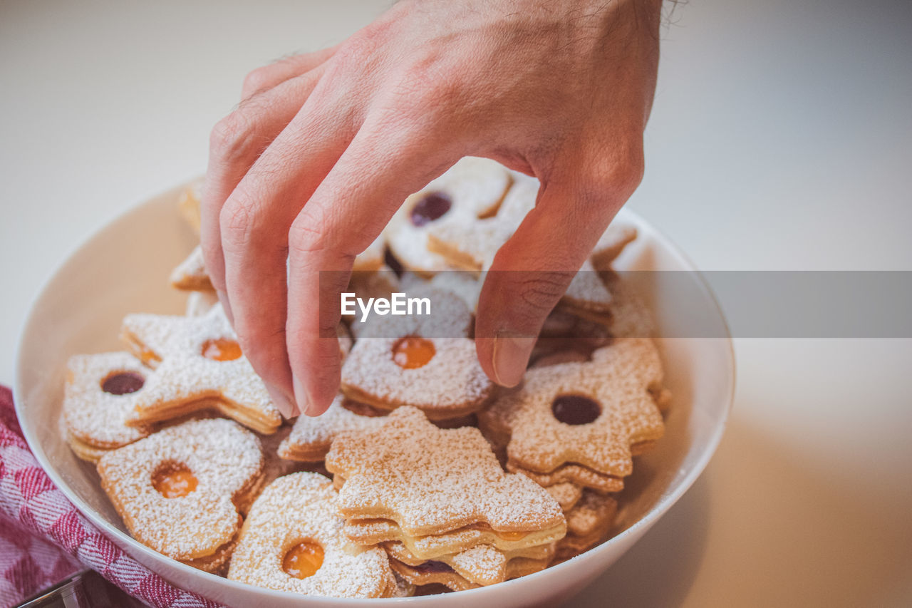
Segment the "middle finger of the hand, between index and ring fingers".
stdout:
<path fill-rule="evenodd" d="M 299 413 L 285 350 L 288 230 L 354 136 L 350 112 L 334 110 L 343 105 L 326 89 L 314 91 L 256 160 L 219 219 L 234 330 L 286 416 Z"/>

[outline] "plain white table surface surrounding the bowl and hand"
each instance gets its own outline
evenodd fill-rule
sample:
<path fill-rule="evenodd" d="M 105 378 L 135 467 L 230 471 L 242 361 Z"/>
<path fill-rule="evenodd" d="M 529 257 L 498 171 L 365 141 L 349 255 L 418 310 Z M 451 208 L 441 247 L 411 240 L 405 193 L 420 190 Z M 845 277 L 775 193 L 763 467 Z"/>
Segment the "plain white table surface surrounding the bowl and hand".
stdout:
<path fill-rule="evenodd" d="M 202 173 L 247 71 L 384 5 L 0 4 L 0 383 L 42 282 Z M 704 269 L 912 269 L 912 3 L 700 0 L 675 20 L 630 206 Z M 736 351 L 706 473 L 572 605 L 912 605 L 912 341 Z"/>

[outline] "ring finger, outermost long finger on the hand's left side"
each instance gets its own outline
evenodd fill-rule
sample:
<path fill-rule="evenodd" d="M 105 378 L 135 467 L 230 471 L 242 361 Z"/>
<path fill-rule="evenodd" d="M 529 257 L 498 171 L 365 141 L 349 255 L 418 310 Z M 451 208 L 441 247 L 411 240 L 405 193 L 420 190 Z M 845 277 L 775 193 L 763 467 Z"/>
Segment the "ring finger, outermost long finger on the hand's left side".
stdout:
<path fill-rule="evenodd" d="M 322 67 L 316 68 L 254 96 L 212 130 L 200 238 L 206 270 L 229 319 L 233 319 L 233 310 L 225 295 L 220 225 L 223 205 L 266 146 L 305 104 L 323 72 Z"/>

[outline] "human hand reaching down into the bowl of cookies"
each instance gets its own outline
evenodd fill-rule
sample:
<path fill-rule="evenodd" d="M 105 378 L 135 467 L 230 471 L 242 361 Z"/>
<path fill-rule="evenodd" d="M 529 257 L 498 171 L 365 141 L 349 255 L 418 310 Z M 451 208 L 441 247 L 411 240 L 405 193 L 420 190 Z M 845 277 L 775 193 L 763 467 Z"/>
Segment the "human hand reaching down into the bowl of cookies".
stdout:
<path fill-rule="evenodd" d="M 202 246 L 283 414 L 321 414 L 337 392 L 354 257 L 467 155 L 541 181 L 476 320 L 484 371 L 520 381 L 545 316 L 642 177 L 660 6 L 402 0 L 337 47 L 247 76 L 212 131 Z M 321 271 L 334 272 L 321 284 Z"/>

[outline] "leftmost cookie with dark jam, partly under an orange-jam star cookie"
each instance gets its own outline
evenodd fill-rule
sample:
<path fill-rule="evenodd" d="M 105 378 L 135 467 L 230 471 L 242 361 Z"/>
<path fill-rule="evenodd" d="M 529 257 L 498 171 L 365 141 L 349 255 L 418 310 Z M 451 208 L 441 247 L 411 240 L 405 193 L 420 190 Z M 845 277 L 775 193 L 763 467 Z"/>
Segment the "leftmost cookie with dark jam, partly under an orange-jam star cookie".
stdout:
<path fill-rule="evenodd" d="M 152 373 L 129 352 L 75 355 L 67 362 L 63 420 L 67 443 L 77 456 L 98 461 L 106 451 L 149 435 L 126 424 Z"/>

